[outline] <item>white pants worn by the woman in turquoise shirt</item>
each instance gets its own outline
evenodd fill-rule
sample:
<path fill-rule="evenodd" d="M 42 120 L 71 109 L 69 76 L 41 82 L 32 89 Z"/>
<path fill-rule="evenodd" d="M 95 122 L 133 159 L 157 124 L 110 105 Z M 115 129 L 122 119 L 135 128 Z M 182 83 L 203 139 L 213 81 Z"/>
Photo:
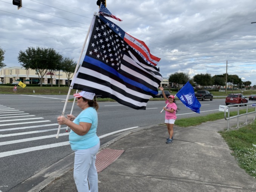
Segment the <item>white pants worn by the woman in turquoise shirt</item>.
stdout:
<path fill-rule="evenodd" d="M 100 142 L 89 149 L 75 151 L 74 180 L 78 192 L 98 192 L 98 174 L 95 161 L 99 148 Z"/>

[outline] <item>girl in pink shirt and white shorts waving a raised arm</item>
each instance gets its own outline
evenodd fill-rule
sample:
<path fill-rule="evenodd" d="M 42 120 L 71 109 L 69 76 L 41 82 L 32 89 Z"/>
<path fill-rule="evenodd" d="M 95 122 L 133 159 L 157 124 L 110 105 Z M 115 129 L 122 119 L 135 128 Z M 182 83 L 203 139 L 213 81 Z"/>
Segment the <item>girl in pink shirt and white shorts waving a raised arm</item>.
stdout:
<path fill-rule="evenodd" d="M 166 143 L 172 143 L 173 142 L 173 126 L 174 122 L 176 120 L 176 111 L 177 111 L 177 105 L 175 103 L 174 95 L 170 95 L 168 98 L 165 95 L 165 92 L 163 91 L 163 88 L 159 88 L 163 93 L 163 98 L 165 98 L 165 103 L 167 104 L 166 107 L 163 108 L 165 110 L 165 123 L 167 125 L 169 137 L 167 138 Z"/>

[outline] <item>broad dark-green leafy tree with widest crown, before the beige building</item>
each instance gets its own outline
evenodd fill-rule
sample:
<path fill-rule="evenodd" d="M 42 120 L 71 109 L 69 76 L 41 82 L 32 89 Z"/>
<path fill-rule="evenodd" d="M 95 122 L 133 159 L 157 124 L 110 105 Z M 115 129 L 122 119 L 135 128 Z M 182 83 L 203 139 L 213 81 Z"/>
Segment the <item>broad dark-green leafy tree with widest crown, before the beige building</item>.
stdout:
<path fill-rule="evenodd" d="M 52 65 L 59 63 L 61 58 L 59 53 L 52 48 L 29 47 L 25 51 L 19 52 L 18 61 L 25 69 L 34 69 L 38 73 L 40 86 L 42 86 L 46 72 L 52 69 Z"/>

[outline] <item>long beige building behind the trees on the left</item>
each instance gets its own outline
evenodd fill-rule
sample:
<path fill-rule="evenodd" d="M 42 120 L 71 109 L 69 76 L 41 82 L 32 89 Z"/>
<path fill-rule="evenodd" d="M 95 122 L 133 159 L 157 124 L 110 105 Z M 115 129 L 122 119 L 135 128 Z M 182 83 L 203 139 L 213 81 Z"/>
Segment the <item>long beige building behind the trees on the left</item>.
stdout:
<path fill-rule="evenodd" d="M 19 81 L 15 81 L 20 79 L 25 84 L 38 84 L 40 83 L 40 78 L 38 73 L 33 69 L 25 69 L 23 67 L 9 67 L 0 69 L 0 82 L 3 84 L 6 83 L 19 83 Z M 66 73 L 63 71 L 56 71 L 52 75 L 52 84 L 68 84 L 68 78 Z M 70 79 L 71 83 L 72 78 Z M 46 72 L 43 77 L 44 84 L 51 83 L 51 76 L 49 72 Z"/>

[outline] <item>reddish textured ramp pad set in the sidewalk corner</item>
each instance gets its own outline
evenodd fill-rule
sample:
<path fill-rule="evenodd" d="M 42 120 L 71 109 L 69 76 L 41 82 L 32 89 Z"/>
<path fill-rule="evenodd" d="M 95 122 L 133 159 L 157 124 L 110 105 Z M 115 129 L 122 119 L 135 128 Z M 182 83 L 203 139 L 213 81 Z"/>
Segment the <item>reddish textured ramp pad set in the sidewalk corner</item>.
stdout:
<path fill-rule="evenodd" d="M 117 150 L 117 149 L 103 149 L 96 155 L 96 168 L 97 172 L 101 172 L 111 163 L 117 160 L 117 158 L 124 152 L 124 150 Z"/>

